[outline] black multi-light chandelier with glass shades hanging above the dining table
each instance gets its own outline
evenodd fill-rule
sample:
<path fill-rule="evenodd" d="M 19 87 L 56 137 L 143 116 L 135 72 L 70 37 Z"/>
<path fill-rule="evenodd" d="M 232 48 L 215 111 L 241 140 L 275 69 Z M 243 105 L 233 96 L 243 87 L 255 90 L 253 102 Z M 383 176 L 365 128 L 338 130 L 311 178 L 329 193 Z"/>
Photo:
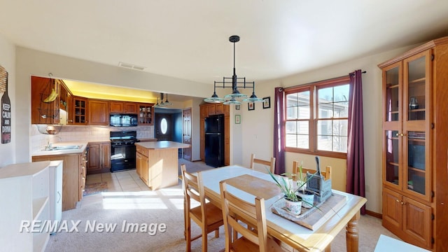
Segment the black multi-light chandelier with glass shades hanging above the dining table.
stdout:
<path fill-rule="evenodd" d="M 246 82 L 246 77 L 237 77 L 237 73 L 235 71 L 235 43 L 239 41 L 239 36 L 237 35 L 230 36 L 229 41 L 233 43 L 233 76 L 223 77 L 223 81 L 215 81 L 213 95 L 210 98 L 204 99 L 204 102 L 224 103 L 225 105 L 241 104 L 241 102 L 239 101 L 241 99 L 243 102 L 262 102 L 263 100 L 255 95 L 255 82 Z M 232 84 L 232 85 L 226 85 L 226 84 Z M 231 87 L 232 93 L 225 95 L 224 98 L 220 98 L 216 94 L 216 87 L 221 88 Z M 241 94 L 238 90 L 238 87 L 252 88 L 251 97 L 247 97 L 246 94 Z"/>

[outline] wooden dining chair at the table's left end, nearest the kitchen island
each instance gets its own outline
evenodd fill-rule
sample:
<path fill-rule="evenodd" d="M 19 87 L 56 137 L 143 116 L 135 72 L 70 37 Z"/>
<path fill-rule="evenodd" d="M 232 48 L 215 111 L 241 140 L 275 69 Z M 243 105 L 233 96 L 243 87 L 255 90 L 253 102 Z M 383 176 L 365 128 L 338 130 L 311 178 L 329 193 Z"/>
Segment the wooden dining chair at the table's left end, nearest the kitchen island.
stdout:
<path fill-rule="evenodd" d="M 191 241 L 202 237 L 202 251 L 207 251 L 207 234 L 215 231 L 215 237 L 219 237 L 219 227 L 224 224 L 221 209 L 214 204 L 205 201 L 202 174 L 197 176 L 186 171 L 186 165 L 181 165 L 183 192 L 184 192 L 184 221 L 185 236 L 187 242 L 186 251 L 191 251 Z M 200 206 L 191 208 L 191 200 L 200 203 Z M 191 220 L 195 221 L 202 230 L 201 235 L 191 237 Z"/>

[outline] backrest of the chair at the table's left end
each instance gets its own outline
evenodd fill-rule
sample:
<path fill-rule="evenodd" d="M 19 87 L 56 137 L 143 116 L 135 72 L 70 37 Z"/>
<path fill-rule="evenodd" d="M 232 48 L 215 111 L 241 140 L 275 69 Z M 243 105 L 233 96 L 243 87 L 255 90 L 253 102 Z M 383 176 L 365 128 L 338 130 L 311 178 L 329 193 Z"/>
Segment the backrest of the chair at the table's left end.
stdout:
<path fill-rule="evenodd" d="M 195 200 L 200 203 L 202 211 L 202 223 L 207 225 L 207 218 L 205 218 L 206 205 L 204 196 L 204 186 L 202 186 L 202 174 L 197 173 L 197 176 L 190 174 L 186 170 L 186 165 L 181 165 L 182 171 L 182 183 L 183 183 L 183 194 L 185 196 L 185 211 L 186 216 L 189 216 L 189 210 L 191 208 L 191 200 Z"/>

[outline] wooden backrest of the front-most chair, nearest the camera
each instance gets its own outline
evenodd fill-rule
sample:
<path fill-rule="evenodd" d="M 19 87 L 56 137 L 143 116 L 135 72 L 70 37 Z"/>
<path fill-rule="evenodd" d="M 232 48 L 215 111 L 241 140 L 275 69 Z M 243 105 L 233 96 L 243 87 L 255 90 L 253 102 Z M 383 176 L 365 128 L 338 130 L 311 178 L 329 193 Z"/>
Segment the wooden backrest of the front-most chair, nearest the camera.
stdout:
<path fill-rule="evenodd" d="M 255 204 L 251 204 L 229 193 L 225 181 L 221 181 L 219 186 L 225 229 L 225 251 L 231 251 L 234 231 L 257 244 L 260 251 L 267 251 L 265 199 L 255 197 Z M 247 221 L 247 226 L 241 220 Z M 248 226 L 256 227 L 256 231 L 248 229 Z"/>

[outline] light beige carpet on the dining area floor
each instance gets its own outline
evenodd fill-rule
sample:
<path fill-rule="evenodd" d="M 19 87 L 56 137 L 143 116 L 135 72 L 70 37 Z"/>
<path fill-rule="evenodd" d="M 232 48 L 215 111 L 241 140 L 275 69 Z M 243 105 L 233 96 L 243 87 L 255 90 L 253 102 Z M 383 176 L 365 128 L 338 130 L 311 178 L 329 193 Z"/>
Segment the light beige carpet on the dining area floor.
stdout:
<path fill-rule="evenodd" d="M 183 163 L 186 161 L 181 161 Z M 190 172 L 197 172 L 206 165 L 186 162 Z M 209 168 L 209 167 L 208 167 Z M 45 251 L 186 251 L 183 236 L 183 192 L 181 184 L 157 191 L 103 192 L 83 198 L 77 209 L 64 211 L 62 220 L 68 221 L 68 230 L 50 236 Z M 77 231 L 70 232 L 71 221 L 80 221 Z M 115 232 L 90 230 L 89 224 L 116 224 Z M 139 225 L 139 232 L 123 232 L 123 221 Z M 193 222 L 192 222 L 193 223 Z M 152 234 L 146 225 L 166 225 L 165 232 Z M 193 235 L 200 234 L 194 223 Z M 374 251 L 379 235 L 396 238 L 381 227 L 381 220 L 372 216 L 361 216 L 359 221 L 359 251 Z M 86 232 L 87 227 L 87 232 Z M 97 228 L 100 228 L 97 225 Z M 149 232 L 148 232 L 149 231 Z M 221 251 L 224 246 L 224 229 L 221 236 L 209 235 L 209 251 Z M 345 231 L 335 237 L 332 251 L 346 251 Z M 201 251 L 201 239 L 192 243 L 193 251 Z"/>

